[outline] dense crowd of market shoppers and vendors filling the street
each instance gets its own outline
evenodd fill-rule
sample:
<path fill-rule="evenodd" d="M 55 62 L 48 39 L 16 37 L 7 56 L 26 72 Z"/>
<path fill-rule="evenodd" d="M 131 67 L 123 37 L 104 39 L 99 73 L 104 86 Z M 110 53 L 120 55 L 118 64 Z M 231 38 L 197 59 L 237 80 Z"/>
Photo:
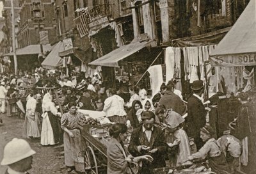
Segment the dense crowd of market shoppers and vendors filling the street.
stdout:
<path fill-rule="evenodd" d="M 83 149 L 80 130 L 85 117 L 77 111 L 79 108 L 102 111 L 113 123 L 109 128 L 108 173 L 152 173 L 166 164 L 175 168 L 205 159 L 215 173 L 256 173 L 256 152 L 250 148 L 256 143 L 256 113 L 248 93 L 238 95 L 241 107 L 234 135 L 228 133 L 217 139 L 207 121 L 211 109 L 204 105 L 204 83 L 200 80 L 191 84 L 193 95 L 185 102 L 175 89 L 175 81 L 163 83 L 159 93 L 150 97 L 143 86 L 125 81 L 113 85 L 102 81 L 99 72 L 85 78 L 83 74 L 67 76 L 40 69 L 33 77 L 26 74 L 26 83 L 14 75 L 1 77 L 1 112 L 6 111 L 6 99 L 24 94 L 24 135 L 40 139 L 43 146 L 63 143 L 68 172 L 76 170 L 74 156 Z M 36 88 L 28 90 L 34 78 Z M 125 145 L 128 132 L 131 137 Z M 10 164 L 3 161 L 3 165 Z M 140 166 L 138 171 L 132 168 L 134 163 Z"/>

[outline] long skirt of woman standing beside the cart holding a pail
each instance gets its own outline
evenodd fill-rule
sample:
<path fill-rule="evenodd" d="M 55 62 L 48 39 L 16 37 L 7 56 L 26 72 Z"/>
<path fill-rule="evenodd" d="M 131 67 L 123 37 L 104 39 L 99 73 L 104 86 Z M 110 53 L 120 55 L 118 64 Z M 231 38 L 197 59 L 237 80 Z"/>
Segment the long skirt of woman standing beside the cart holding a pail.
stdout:
<path fill-rule="evenodd" d="M 74 134 L 70 137 L 67 132 L 63 134 L 64 152 L 65 152 L 65 165 L 68 167 L 75 166 L 77 153 L 81 150 L 81 136 L 79 129 L 69 130 Z"/>

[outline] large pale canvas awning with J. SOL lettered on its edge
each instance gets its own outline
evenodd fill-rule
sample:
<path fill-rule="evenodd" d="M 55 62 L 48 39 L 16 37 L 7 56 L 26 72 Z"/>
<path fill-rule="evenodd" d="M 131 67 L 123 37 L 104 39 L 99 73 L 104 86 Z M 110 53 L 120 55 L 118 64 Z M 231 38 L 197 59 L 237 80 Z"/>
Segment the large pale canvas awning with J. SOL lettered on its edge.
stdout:
<path fill-rule="evenodd" d="M 210 54 L 213 66 L 256 65 L 255 0 L 244 9 L 236 23 Z"/>

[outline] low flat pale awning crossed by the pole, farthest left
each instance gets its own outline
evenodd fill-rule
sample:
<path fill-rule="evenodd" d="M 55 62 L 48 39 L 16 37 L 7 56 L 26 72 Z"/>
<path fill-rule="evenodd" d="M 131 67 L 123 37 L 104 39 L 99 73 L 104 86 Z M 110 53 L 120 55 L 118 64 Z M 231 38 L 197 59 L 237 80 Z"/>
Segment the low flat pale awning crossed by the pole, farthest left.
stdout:
<path fill-rule="evenodd" d="M 52 46 L 50 44 L 47 45 L 43 45 L 43 51 L 47 52 L 47 51 L 51 51 L 52 50 Z M 20 55 L 28 55 L 28 54 L 40 54 L 40 45 L 28 45 L 26 47 L 23 47 L 21 49 L 17 49 L 16 50 L 16 55 L 20 56 Z M 3 56 L 13 56 L 13 52 L 9 52 L 7 54 L 4 54 Z"/>

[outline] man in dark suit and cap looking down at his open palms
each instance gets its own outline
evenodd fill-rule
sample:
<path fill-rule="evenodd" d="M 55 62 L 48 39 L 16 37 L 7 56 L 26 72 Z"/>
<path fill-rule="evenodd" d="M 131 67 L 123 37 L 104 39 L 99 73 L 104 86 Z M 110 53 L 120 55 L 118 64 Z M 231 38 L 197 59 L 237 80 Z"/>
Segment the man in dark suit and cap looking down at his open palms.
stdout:
<path fill-rule="evenodd" d="M 151 155 L 152 162 L 143 161 L 140 173 L 150 174 L 154 168 L 163 168 L 167 145 L 164 133 L 159 127 L 155 127 L 155 115 L 152 111 L 144 111 L 141 116 L 143 125 L 134 129 L 128 147 L 133 156 Z"/>

